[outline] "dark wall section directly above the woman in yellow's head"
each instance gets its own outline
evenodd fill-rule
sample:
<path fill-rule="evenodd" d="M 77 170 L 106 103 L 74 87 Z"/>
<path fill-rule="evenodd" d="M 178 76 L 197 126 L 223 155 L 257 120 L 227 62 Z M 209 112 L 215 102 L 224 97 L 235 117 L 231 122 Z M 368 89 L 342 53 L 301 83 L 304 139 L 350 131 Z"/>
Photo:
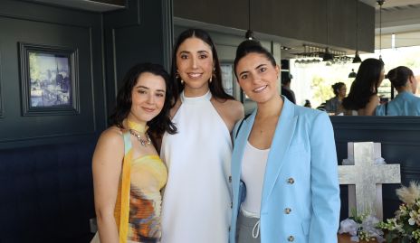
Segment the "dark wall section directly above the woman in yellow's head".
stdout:
<path fill-rule="evenodd" d="M 104 14 L 109 111 L 131 66 L 146 61 L 168 65 L 172 48 L 171 7 L 167 0 L 129 1 L 126 10 Z"/>

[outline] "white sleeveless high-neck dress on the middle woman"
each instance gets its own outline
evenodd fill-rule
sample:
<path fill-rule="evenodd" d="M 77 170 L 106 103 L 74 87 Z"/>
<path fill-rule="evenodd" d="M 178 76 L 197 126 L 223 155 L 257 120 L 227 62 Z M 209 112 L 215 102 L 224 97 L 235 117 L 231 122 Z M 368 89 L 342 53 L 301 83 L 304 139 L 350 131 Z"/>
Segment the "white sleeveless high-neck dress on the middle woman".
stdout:
<path fill-rule="evenodd" d="M 168 177 L 162 201 L 162 243 L 224 243 L 231 220 L 232 142 L 212 94 L 186 98 L 163 136 Z"/>

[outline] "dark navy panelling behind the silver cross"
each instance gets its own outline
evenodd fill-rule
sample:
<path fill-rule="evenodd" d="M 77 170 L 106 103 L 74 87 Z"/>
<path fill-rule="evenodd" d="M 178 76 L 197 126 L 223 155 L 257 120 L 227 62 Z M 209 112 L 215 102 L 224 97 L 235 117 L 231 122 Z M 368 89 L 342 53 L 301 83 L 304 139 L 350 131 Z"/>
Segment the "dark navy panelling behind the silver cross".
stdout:
<path fill-rule="evenodd" d="M 348 142 L 381 143 L 381 154 L 387 164 L 401 165 L 401 182 L 420 182 L 420 119 L 418 117 L 330 117 L 334 126 L 339 164 L 347 158 Z M 399 184 L 384 184 L 384 218 L 394 217 L 400 201 Z M 341 186 L 341 218 L 348 215 L 347 186 Z"/>

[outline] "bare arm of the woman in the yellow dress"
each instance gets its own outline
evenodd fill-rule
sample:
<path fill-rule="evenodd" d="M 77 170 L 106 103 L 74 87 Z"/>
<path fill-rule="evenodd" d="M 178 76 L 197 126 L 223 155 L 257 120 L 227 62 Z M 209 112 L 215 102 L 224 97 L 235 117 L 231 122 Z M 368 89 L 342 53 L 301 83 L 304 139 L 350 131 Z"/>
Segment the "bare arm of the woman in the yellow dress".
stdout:
<path fill-rule="evenodd" d="M 123 157 L 122 135 L 118 128 L 111 127 L 100 136 L 92 161 L 95 211 L 101 243 L 119 242 L 114 207 Z"/>

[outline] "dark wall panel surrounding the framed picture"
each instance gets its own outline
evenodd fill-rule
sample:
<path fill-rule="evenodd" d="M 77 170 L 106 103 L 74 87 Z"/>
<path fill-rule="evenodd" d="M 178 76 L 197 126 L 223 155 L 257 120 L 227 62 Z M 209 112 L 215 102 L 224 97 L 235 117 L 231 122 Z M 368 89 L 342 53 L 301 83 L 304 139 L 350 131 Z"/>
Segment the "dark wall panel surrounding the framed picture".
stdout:
<path fill-rule="evenodd" d="M 63 143 L 97 136 L 105 127 L 101 16 L 21 1 L 0 3 L 0 74 L 3 119 L 0 148 Z M 23 116 L 19 43 L 77 51 L 77 114 Z"/>

